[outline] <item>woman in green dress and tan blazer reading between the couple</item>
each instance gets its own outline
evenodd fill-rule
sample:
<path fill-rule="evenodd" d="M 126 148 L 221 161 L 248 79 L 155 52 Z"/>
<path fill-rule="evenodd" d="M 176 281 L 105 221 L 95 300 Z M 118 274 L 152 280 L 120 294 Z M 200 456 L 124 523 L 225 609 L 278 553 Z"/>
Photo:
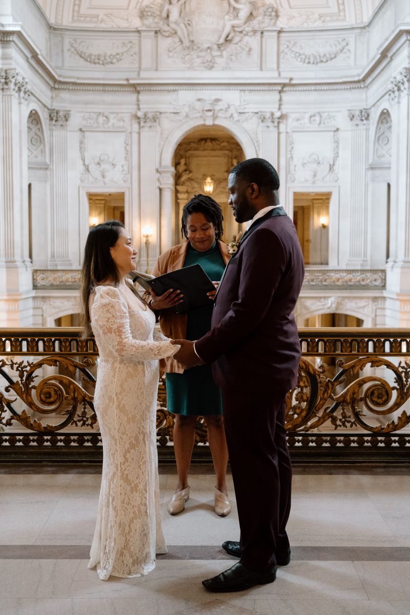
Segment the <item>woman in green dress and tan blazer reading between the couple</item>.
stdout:
<path fill-rule="evenodd" d="M 157 277 L 176 269 L 200 264 L 217 287 L 229 261 L 227 245 L 221 241 L 224 232 L 222 223 L 223 214 L 218 203 L 210 196 L 195 195 L 183 209 L 183 243 L 160 255 L 152 274 Z M 215 293 L 216 290 L 208 293 L 209 306 L 187 314 L 176 314 L 169 309 L 181 302 L 178 288 L 170 289 L 161 296 L 151 291 L 151 298 L 149 293 L 145 293 L 144 297 L 159 315 L 164 335 L 172 339 L 194 340 L 205 335 L 211 328 Z M 168 512 L 171 515 L 182 512 L 189 499 L 188 472 L 195 442 L 195 423 L 198 416 L 204 416 L 216 474 L 215 512 L 224 517 L 232 508 L 226 487 L 228 452 L 221 391 L 213 381 L 211 366 L 200 365 L 184 371 L 176 360 L 170 358 L 160 361 L 160 370 L 166 373 L 167 409 L 175 414 L 173 440 L 178 483 L 173 498 L 168 502 Z"/>

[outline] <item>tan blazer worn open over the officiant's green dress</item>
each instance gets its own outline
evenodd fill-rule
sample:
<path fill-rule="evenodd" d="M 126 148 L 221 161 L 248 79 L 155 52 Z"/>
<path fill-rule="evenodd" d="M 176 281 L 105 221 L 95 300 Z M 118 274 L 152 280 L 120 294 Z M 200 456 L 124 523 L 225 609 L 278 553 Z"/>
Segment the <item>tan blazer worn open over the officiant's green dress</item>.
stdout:
<path fill-rule="evenodd" d="M 162 274 L 168 273 L 168 271 L 175 271 L 176 269 L 183 268 L 188 245 L 189 242 L 185 241 L 183 244 L 174 245 L 172 248 L 161 254 L 154 266 L 154 269 L 152 269 L 152 275 L 156 277 L 162 276 Z M 224 263 L 227 264 L 229 258 L 231 258 L 228 253 L 227 245 L 222 241 L 218 241 L 218 247 L 221 251 Z M 143 296 L 145 300 L 149 300 L 151 297 L 148 291 L 145 292 Z M 167 336 L 167 338 L 185 339 L 186 322 L 186 314 L 175 314 L 175 312 L 171 312 L 169 309 L 164 309 L 159 312 L 159 324 L 161 331 Z M 160 371 L 166 371 L 168 373 L 182 374 L 184 372 L 182 365 L 172 357 L 160 359 L 159 368 Z"/>

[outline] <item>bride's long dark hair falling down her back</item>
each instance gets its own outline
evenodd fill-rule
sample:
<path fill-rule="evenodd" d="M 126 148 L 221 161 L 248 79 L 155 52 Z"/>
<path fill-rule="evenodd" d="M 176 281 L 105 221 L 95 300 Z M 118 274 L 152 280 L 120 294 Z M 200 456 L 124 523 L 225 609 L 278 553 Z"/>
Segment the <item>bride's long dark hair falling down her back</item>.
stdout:
<path fill-rule="evenodd" d="M 107 280 L 113 286 L 119 285 L 118 271 L 114 260 L 112 260 L 109 248 L 114 247 L 117 243 L 120 229 L 123 228 L 124 224 L 119 220 L 108 220 L 102 224 L 97 224 L 97 226 L 90 230 L 85 242 L 84 262 L 82 263 L 81 271 L 81 324 L 84 329 L 82 333 L 83 338 L 93 335 L 89 300 L 94 288 L 98 284 L 107 282 Z M 132 284 L 130 284 L 130 288 L 141 299 Z"/>

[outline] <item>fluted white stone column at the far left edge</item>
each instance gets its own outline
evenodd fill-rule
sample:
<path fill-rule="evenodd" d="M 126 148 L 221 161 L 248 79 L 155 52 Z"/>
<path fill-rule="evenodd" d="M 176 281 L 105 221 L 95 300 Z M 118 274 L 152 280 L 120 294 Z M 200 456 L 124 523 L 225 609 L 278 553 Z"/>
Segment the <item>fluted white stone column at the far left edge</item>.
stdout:
<path fill-rule="evenodd" d="M 28 261 L 28 81 L 14 68 L 1 68 L 0 92 L 0 288 L 7 296 L 32 287 Z M 12 309 L 20 308 L 18 297 L 14 296 L 13 304 L 17 308 Z M 18 313 L 12 320 L 20 323 Z"/>

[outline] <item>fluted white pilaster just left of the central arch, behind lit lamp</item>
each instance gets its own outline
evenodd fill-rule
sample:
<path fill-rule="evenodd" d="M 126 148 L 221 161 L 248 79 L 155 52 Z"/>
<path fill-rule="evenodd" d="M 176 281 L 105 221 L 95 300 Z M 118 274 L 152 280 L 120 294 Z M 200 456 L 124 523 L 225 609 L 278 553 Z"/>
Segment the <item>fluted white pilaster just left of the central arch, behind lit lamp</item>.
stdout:
<path fill-rule="evenodd" d="M 148 224 L 154 231 L 149 247 L 149 266 L 151 270 L 159 256 L 160 215 L 157 167 L 159 155 L 159 113 L 138 113 L 140 119 L 140 189 L 141 189 L 141 228 Z M 141 245 L 143 237 L 141 237 Z M 145 263 L 145 260 L 143 259 Z M 145 270 L 145 267 L 144 267 Z"/>

